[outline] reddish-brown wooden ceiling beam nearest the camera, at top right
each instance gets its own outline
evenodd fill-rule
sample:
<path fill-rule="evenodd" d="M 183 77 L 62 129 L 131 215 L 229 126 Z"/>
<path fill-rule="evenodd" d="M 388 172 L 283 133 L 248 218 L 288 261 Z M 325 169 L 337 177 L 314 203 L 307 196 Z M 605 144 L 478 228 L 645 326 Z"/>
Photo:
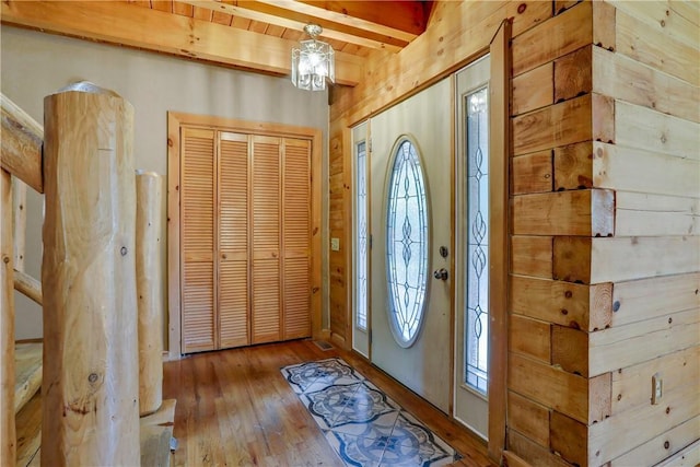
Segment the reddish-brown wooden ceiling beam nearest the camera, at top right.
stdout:
<path fill-rule="evenodd" d="M 428 19 L 423 2 L 411 0 L 319 1 L 238 0 L 237 3 L 266 3 L 304 13 L 318 21 L 347 24 L 368 32 L 411 42 L 425 32 Z"/>

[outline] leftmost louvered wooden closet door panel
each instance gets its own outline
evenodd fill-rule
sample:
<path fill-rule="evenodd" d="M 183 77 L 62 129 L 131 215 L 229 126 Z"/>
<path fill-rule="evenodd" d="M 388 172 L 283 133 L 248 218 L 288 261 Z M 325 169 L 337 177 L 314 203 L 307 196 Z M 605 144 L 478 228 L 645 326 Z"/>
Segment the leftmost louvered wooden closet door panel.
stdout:
<path fill-rule="evenodd" d="M 214 131 L 184 128 L 180 154 L 183 352 L 215 348 Z"/>

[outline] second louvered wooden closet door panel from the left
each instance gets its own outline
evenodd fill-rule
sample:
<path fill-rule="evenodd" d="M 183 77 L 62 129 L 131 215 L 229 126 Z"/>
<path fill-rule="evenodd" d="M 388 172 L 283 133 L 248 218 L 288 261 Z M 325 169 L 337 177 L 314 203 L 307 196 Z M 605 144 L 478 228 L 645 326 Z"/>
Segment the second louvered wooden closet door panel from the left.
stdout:
<path fill-rule="evenodd" d="M 220 133 L 219 203 L 219 339 L 225 349 L 250 343 L 247 135 Z"/>

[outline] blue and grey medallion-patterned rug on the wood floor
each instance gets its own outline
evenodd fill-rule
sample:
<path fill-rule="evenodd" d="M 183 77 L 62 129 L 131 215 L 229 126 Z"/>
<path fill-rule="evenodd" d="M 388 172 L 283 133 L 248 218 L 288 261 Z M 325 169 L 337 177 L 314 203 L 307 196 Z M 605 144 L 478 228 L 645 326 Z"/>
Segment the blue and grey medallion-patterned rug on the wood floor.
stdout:
<path fill-rule="evenodd" d="M 460 458 L 341 359 L 281 371 L 346 466 L 445 466 Z"/>

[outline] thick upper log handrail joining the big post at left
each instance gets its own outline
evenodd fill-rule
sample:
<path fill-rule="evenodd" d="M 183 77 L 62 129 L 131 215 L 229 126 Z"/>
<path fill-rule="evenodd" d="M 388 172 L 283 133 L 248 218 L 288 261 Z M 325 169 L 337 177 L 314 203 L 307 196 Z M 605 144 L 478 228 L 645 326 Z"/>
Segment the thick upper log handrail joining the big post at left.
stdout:
<path fill-rule="evenodd" d="M 0 112 L 2 168 L 36 191 L 44 192 L 42 172 L 44 128 L 2 93 L 0 93 Z"/>

